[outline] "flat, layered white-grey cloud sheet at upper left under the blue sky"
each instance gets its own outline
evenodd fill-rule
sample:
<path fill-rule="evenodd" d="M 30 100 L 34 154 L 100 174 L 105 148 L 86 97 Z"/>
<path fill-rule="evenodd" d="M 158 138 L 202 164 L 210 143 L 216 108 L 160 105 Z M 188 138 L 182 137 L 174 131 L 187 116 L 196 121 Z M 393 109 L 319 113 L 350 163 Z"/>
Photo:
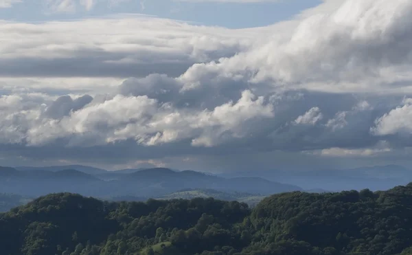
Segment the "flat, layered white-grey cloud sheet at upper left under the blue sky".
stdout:
<path fill-rule="evenodd" d="M 258 34 L 139 15 L 0 22 L 0 32 L 0 76 L 119 78 L 180 76 L 194 63 L 244 51 Z"/>

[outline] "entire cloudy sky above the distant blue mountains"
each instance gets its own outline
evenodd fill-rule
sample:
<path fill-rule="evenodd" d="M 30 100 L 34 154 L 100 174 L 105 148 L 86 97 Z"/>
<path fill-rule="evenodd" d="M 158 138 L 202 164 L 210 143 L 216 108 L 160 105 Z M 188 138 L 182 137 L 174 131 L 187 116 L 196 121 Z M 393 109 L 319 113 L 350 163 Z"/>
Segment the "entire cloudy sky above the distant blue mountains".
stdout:
<path fill-rule="evenodd" d="M 0 165 L 409 166 L 412 1 L 0 0 Z"/>

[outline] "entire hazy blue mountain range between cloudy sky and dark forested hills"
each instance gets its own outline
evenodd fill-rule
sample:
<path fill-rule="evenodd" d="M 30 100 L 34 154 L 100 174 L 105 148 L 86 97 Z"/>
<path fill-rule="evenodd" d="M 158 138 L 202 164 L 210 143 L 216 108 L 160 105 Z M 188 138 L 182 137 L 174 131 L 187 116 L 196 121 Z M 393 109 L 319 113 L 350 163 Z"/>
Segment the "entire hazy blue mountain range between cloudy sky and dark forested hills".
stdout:
<path fill-rule="evenodd" d="M 249 170 L 220 175 L 169 168 L 104 170 L 91 166 L 19 166 L 1 168 L 0 192 L 44 195 L 71 191 L 97 197 L 161 197 L 184 188 L 268 195 L 290 190 L 325 192 L 387 190 L 412 181 L 412 171 L 398 165 L 321 170 Z M 75 180 L 75 181 L 73 181 Z M 55 182 L 55 183 L 54 183 Z M 24 185 L 23 185 L 24 184 Z"/>

